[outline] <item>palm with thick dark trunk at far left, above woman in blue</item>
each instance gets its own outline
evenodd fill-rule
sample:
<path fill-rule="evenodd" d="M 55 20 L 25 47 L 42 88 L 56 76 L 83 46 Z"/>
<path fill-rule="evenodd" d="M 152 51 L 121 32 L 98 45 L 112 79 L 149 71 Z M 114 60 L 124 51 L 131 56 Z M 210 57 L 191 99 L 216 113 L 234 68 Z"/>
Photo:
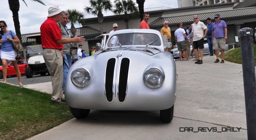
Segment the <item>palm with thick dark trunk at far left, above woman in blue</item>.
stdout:
<path fill-rule="evenodd" d="M 26 4 L 25 0 L 22 0 L 22 1 Z M 31 1 L 38 2 L 40 4 L 45 5 L 41 0 L 31 0 Z M 8 0 L 8 3 L 9 3 L 9 8 L 12 11 L 12 18 L 13 18 L 13 22 L 14 22 L 15 32 L 21 42 L 20 20 L 19 20 L 19 13 L 18 13 L 20 11 L 20 1 L 19 0 Z M 26 4 L 26 6 L 28 7 L 27 4 Z"/>

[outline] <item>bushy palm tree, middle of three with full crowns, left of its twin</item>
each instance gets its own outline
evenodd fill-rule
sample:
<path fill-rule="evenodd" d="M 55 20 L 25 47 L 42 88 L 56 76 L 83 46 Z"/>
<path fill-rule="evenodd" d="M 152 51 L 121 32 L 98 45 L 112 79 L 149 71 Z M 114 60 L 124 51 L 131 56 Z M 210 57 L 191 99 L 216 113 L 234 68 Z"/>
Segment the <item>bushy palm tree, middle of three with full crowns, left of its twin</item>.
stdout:
<path fill-rule="evenodd" d="M 112 10 L 112 4 L 110 2 L 110 0 L 90 0 L 90 5 L 91 7 L 85 7 L 84 11 L 95 15 L 98 17 L 98 21 L 100 23 L 100 34 L 103 34 L 103 14 L 102 11 L 111 11 Z"/>

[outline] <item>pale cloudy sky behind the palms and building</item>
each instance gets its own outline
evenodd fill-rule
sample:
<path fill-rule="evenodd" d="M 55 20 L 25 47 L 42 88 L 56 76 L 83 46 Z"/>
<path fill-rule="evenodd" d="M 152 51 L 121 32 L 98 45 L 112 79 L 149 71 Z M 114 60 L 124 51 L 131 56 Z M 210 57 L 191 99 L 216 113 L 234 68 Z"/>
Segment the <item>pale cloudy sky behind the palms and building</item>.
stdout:
<path fill-rule="evenodd" d="M 86 6 L 90 7 L 89 0 L 41 0 L 44 5 L 33 2 L 31 0 L 25 0 L 25 3 L 20 0 L 20 32 L 21 34 L 29 34 L 40 32 L 41 24 L 47 19 L 48 8 L 54 5 L 60 7 L 61 10 L 76 9 L 80 12 L 84 12 Z M 113 4 L 114 0 L 110 0 Z M 136 0 L 133 0 L 136 3 Z M 8 0 L 1 0 L 1 16 L 0 20 L 4 20 L 8 26 L 7 30 L 13 30 L 14 23 L 12 19 L 12 11 L 9 9 Z M 138 4 L 137 4 L 138 6 Z M 144 8 L 154 8 L 154 7 L 170 7 L 178 8 L 177 0 L 167 0 L 164 3 L 157 0 L 146 0 L 144 3 Z M 90 14 L 85 14 L 85 18 L 93 18 L 95 16 Z M 103 13 L 104 16 L 113 15 L 111 12 Z M 103 21 L 104 22 L 104 21 Z M 70 24 L 67 25 L 70 28 Z M 75 27 L 82 27 L 82 25 L 75 25 Z"/>

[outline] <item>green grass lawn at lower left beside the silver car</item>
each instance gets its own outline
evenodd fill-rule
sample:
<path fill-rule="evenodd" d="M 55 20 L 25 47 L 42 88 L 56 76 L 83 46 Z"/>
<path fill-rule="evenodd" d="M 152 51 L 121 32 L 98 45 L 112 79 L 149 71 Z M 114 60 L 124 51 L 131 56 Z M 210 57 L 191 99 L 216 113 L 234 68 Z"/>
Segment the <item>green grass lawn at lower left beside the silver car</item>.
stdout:
<path fill-rule="evenodd" d="M 51 95 L 0 83 L 0 139 L 26 139 L 73 118 Z"/>

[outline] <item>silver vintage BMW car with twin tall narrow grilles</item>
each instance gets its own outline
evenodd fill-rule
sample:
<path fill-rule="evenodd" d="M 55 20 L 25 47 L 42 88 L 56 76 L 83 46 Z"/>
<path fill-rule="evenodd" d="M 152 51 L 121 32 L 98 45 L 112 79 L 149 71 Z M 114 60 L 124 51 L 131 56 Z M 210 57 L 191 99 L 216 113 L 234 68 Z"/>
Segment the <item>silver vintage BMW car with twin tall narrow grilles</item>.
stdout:
<path fill-rule="evenodd" d="M 65 98 L 73 116 L 84 118 L 91 109 L 160 110 L 163 122 L 172 121 L 176 65 L 167 44 L 156 30 L 115 31 L 103 51 L 69 69 Z"/>

